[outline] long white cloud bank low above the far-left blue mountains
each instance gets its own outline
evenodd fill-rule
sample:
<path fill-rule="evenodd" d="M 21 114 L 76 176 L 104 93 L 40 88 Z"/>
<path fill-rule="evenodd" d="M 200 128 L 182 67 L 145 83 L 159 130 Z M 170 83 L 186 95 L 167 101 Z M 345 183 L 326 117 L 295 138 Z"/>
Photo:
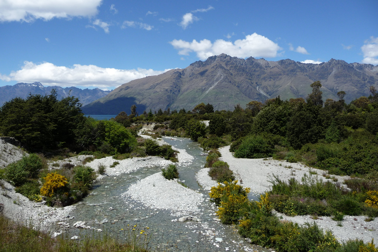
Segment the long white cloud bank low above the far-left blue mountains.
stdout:
<path fill-rule="evenodd" d="M 25 83 L 39 81 L 45 86 L 83 86 L 113 89 L 129 81 L 150 75 L 158 75 L 168 70 L 156 71 L 142 68 L 122 70 L 80 64 L 66 67 L 47 62 L 40 64 L 24 62 L 20 70 L 13 71 L 9 75 L 0 74 L 0 79 Z"/>

